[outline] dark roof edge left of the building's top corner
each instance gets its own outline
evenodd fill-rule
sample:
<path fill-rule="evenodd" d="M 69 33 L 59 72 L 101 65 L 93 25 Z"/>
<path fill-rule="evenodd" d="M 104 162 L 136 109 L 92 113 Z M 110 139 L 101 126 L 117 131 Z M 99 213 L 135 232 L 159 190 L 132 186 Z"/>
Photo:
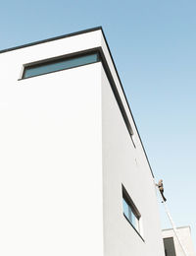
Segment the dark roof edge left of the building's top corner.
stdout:
<path fill-rule="evenodd" d="M 66 38 L 66 37 L 71 37 L 73 35 L 78 35 L 78 34 L 85 33 L 85 32 L 96 32 L 96 31 L 99 31 L 99 30 L 101 30 L 103 32 L 102 27 L 95 27 L 95 28 L 88 29 L 88 30 L 83 30 L 83 31 L 79 31 L 79 32 L 71 32 L 71 33 L 67 33 L 67 34 L 63 34 L 63 35 L 59 35 L 59 36 L 55 36 L 55 37 L 50 37 L 50 38 L 47 38 L 47 39 L 44 39 L 44 40 L 38 40 L 38 41 L 23 44 L 23 45 L 3 49 L 3 50 L 0 50 L 0 53 L 22 49 L 22 48 L 25 48 L 25 47 L 29 47 L 29 46 L 39 44 L 39 43 L 44 43 L 44 42 L 54 41 L 54 40 L 58 40 L 58 39 L 63 39 L 63 38 Z"/>

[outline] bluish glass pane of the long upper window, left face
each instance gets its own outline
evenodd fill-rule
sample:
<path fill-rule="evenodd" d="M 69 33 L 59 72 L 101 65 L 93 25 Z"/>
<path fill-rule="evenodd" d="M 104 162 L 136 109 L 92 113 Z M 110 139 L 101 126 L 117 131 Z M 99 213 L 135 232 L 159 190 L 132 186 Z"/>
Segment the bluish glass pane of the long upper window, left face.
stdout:
<path fill-rule="evenodd" d="M 65 57 L 56 60 L 44 61 L 42 63 L 31 64 L 29 66 L 26 65 L 24 69 L 23 79 L 44 75 L 55 71 L 70 69 L 86 64 L 92 64 L 98 61 L 100 61 L 98 53 L 89 53 L 69 58 Z"/>

